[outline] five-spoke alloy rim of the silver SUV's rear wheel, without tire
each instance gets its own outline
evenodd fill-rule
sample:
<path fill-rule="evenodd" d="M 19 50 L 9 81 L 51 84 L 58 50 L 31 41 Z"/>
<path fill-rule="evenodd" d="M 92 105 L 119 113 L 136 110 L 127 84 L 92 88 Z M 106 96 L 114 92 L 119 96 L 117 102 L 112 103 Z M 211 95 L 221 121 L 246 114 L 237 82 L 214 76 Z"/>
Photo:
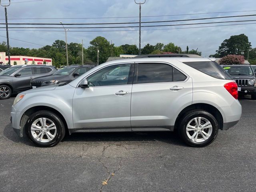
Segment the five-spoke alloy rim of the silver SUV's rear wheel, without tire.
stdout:
<path fill-rule="evenodd" d="M 186 134 L 193 142 L 204 142 L 212 134 L 212 124 L 204 117 L 193 118 L 186 126 Z"/>

